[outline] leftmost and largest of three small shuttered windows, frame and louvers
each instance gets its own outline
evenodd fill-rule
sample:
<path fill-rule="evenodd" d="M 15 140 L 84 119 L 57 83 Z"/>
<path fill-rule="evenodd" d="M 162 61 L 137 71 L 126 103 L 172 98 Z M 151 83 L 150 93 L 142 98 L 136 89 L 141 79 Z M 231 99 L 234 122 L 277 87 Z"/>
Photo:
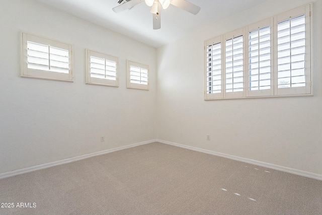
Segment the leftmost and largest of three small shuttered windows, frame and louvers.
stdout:
<path fill-rule="evenodd" d="M 22 33 L 21 77 L 72 81 L 71 45 Z"/>

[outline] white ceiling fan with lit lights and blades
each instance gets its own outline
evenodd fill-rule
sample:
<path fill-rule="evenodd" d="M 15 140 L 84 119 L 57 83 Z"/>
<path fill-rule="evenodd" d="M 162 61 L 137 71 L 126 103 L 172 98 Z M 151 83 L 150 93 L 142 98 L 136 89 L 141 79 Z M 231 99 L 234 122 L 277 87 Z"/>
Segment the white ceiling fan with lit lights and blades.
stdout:
<path fill-rule="evenodd" d="M 141 2 L 143 2 L 143 0 L 120 0 L 118 3 L 122 5 L 113 8 L 113 11 L 115 13 L 119 13 L 125 11 L 126 9 L 131 9 L 134 6 L 140 4 Z M 161 7 L 165 10 L 171 4 L 194 15 L 198 14 L 200 11 L 199 6 L 196 6 L 185 0 L 144 0 L 144 2 L 148 7 L 151 7 L 150 12 L 152 13 L 154 30 L 161 28 Z"/>

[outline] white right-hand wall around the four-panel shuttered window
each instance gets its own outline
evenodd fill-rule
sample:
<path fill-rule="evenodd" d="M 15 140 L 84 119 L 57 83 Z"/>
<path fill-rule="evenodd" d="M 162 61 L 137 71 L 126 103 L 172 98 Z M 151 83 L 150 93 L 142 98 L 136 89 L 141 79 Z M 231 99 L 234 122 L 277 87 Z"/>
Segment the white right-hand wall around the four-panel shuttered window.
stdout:
<path fill-rule="evenodd" d="M 322 174 L 321 0 L 313 10 L 313 97 L 203 100 L 205 40 L 307 3 L 270 0 L 158 48 L 157 138 Z"/>

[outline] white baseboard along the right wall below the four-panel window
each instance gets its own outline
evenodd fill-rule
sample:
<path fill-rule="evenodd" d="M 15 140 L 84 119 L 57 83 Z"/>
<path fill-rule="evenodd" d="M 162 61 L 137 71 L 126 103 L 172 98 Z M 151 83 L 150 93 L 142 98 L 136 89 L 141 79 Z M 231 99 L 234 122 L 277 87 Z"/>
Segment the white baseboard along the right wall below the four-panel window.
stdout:
<path fill-rule="evenodd" d="M 180 148 L 184 148 L 184 149 L 188 149 L 188 150 L 193 150 L 193 151 L 202 152 L 202 153 L 206 153 L 206 154 L 210 154 L 210 155 L 215 155 L 215 156 L 219 156 L 219 157 L 223 157 L 223 158 L 228 158 L 231 160 L 240 161 L 240 162 L 244 162 L 244 163 L 248 163 L 248 164 L 253 164 L 253 165 L 257 165 L 257 166 L 261 166 L 261 167 L 266 167 L 269 169 L 279 170 L 279 171 L 291 173 L 294 175 L 304 176 L 307 178 L 322 180 L 322 175 L 315 174 L 315 173 L 310 173 L 310 172 L 306 172 L 306 171 L 302 171 L 302 170 L 278 166 L 275 164 L 269 164 L 269 163 L 265 163 L 265 162 L 261 162 L 261 161 L 252 160 L 252 159 L 227 155 L 227 154 L 218 153 L 218 152 L 214 152 L 214 151 L 210 151 L 210 150 L 204 150 L 204 149 L 200 149 L 200 148 L 196 148 L 196 147 L 177 144 L 175 142 L 170 142 L 170 141 L 166 141 L 166 140 L 156 139 L 156 141 L 161 142 L 162 144 L 168 144 L 168 145 L 175 146 L 175 147 L 180 147 Z"/>

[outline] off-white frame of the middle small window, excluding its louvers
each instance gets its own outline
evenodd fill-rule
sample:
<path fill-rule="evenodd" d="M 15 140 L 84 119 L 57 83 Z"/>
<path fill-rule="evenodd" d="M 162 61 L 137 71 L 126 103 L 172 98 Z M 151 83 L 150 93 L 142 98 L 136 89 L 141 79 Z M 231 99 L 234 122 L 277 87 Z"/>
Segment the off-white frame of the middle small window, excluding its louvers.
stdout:
<path fill-rule="evenodd" d="M 108 80 L 108 79 L 91 77 L 91 57 L 92 56 L 115 62 L 116 63 L 116 74 L 115 74 L 116 79 L 115 80 Z M 86 49 L 86 79 L 85 79 L 86 84 L 118 87 L 118 81 L 119 81 L 118 74 L 119 74 L 118 73 L 118 57 Z"/>

